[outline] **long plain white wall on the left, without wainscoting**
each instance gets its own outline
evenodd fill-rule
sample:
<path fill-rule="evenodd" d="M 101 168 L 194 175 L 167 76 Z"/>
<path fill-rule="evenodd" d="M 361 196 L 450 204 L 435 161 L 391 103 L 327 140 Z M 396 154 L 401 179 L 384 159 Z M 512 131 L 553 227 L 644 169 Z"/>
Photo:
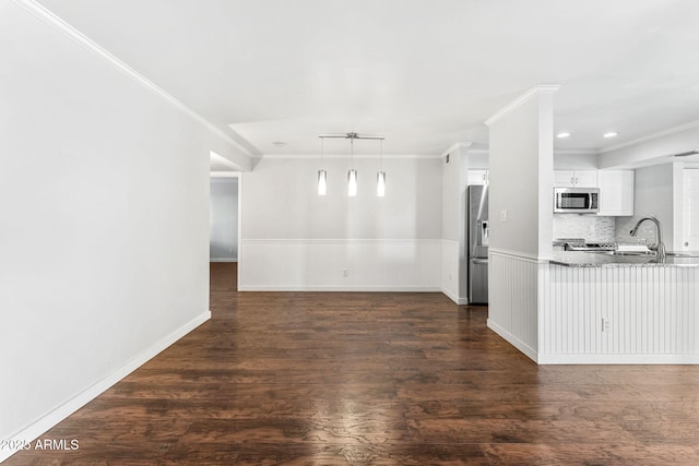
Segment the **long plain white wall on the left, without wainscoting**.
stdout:
<path fill-rule="evenodd" d="M 17 3 L 0 57 L 0 439 L 32 439 L 208 319 L 216 136 Z"/>

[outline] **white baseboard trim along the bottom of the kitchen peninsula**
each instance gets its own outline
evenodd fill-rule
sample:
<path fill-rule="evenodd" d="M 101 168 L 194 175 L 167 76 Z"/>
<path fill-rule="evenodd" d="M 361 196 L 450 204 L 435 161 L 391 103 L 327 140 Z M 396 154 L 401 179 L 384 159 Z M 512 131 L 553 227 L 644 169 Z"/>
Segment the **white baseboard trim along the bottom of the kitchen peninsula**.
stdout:
<path fill-rule="evenodd" d="M 554 354 L 538 355 L 540 365 L 699 365 L 699 355 Z"/>

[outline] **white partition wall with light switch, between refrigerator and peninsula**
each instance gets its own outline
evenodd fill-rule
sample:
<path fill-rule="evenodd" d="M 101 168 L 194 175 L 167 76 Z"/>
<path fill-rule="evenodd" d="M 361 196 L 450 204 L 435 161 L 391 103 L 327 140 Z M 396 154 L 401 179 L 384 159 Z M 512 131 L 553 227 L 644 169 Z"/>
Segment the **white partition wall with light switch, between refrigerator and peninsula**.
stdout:
<path fill-rule="evenodd" d="M 486 123 L 490 129 L 488 327 L 536 360 L 540 262 L 553 239 L 553 92 L 537 87 Z M 507 211 L 507 220 L 500 215 Z"/>

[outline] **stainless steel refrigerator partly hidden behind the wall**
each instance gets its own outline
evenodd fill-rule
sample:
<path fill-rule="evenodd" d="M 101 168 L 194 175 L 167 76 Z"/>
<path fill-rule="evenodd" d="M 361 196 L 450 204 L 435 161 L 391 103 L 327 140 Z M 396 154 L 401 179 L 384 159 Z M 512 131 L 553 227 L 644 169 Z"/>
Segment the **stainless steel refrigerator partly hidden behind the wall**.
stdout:
<path fill-rule="evenodd" d="M 470 186 L 469 205 L 469 302 L 488 302 L 488 187 Z"/>

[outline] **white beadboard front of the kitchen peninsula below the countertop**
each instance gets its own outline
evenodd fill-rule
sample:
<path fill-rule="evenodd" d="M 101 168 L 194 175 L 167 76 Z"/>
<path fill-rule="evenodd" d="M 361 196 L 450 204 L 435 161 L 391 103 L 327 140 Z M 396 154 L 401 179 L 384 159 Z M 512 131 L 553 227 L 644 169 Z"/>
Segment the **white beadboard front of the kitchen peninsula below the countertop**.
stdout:
<path fill-rule="evenodd" d="M 698 268 L 546 268 L 540 362 L 699 362 Z"/>

